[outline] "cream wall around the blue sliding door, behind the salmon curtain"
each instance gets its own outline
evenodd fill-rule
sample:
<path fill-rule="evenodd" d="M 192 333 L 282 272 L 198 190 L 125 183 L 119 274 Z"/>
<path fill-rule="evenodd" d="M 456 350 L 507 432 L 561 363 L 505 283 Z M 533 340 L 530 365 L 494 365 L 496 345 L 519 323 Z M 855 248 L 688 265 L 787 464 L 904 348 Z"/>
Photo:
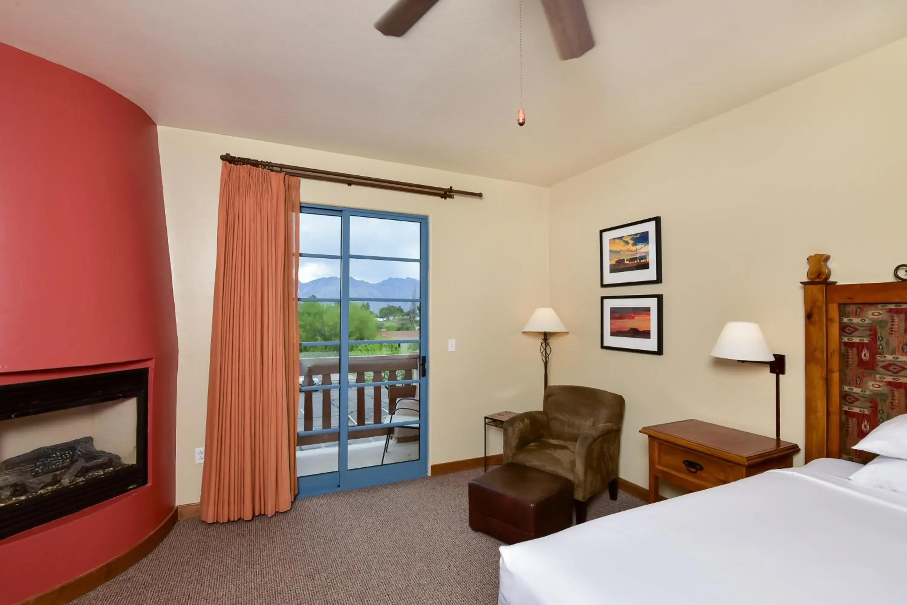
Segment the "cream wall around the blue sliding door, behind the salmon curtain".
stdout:
<path fill-rule="evenodd" d="M 302 181 L 305 201 L 429 217 L 431 464 L 482 455 L 483 415 L 540 405 L 538 342 L 520 330 L 548 304 L 548 190 L 204 132 L 161 127 L 159 138 L 180 339 L 177 503 L 199 501 L 221 153 L 483 191 L 440 200 Z"/>

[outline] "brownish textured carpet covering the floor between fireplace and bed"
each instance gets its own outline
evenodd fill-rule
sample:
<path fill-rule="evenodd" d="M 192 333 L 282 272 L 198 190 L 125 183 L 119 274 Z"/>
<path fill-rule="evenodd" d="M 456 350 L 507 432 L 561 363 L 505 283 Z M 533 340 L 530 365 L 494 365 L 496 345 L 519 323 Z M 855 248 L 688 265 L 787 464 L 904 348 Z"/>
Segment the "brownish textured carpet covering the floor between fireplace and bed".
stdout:
<path fill-rule="evenodd" d="M 298 500 L 250 522 L 176 524 L 148 557 L 81 605 L 493 605 L 501 542 L 469 529 L 466 483 L 481 471 Z M 589 518 L 642 504 L 620 493 Z"/>

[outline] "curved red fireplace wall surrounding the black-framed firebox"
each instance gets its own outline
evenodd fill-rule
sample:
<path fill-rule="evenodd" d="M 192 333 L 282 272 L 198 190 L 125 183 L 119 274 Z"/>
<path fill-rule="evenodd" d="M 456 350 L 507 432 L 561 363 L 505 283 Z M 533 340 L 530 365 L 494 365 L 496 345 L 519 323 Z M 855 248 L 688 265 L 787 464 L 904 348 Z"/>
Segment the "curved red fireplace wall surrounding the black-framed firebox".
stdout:
<path fill-rule="evenodd" d="M 6 605 L 129 551 L 172 512 L 177 341 L 155 123 L 5 44 L 0 74 L 0 381 L 154 367 L 149 485 L 0 541 Z"/>

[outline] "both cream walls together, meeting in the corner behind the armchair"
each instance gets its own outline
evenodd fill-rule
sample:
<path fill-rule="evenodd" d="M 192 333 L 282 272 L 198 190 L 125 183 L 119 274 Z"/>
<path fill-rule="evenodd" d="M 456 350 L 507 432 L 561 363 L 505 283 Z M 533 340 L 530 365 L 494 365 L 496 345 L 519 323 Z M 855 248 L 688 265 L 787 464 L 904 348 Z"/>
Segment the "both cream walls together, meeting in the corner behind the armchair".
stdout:
<path fill-rule="evenodd" d="M 552 382 L 625 395 L 621 476 L 647 481 L 639 428 L 688 417 L 774 430 L 764 366 L 708 356 L 734 319 L 762 324 L 788 360 L 782 436 L 803 445 L 805 257 L 834 278 L 886 281 L 907 259 L 907 41 L 839 65 L 550 190 L 385 161 L 161 127 L 180 337 L 177 500 L 197 502 L 204 444 L 220 153 L 482 190 L 436 200 L 303 181 L 303 200 L 429 216 L 430 463 L 482 454 L 483 414 L 540 405 L 537 341 L 549 302 L 570 328 Z M 662 217 L 664 283 L 600 288 L 599 229 Z M 665 295 L 665 355 L 599 347 L 602 295 Z M 448 338 L 457 351 L 448 353 Z M 492 434 L 491 451 L 500 451 Z"/>

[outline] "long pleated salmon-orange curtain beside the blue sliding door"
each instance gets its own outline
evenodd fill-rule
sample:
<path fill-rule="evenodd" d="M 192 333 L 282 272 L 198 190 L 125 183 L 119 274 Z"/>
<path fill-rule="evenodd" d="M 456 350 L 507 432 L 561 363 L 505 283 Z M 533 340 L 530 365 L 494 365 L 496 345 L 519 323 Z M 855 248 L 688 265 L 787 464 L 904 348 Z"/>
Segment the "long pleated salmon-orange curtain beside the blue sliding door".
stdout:
<path fill-rule="evenodd" d="M 223 162 L 201 482 L 206 522 L 288 511 L 298 492 L 299 179 Z"/>

